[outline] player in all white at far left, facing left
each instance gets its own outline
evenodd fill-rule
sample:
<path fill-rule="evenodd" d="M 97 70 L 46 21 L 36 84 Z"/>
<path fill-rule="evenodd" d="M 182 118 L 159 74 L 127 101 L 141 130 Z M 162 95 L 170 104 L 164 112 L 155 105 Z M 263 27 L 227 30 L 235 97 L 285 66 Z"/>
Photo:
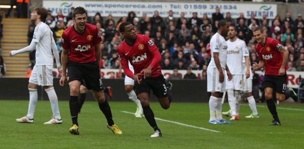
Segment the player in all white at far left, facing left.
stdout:
<path fill-rule="evenodd" d="M 57 69 L 60 69 L 59 54 L 57 52 L 56 43 L 53 39 L 53 32 L 44 22 L 47 18 L 48 11 L 45 8 L 35 8 L 31 13 L 31 20 L 34 21 L 36 27 L 31 44 L 20 50 L 13 50 L 9 52 L 10 56 L 33 51 L 36 49 L 36 65 L 33 68 L 31 77 L 29 79 L 30 103 L 28 114 L 24 117 L 16 119 L 17 122 L 33 123 L 34 112 L 37 103 L 37 88 L 44 87 L 47 92 L 51 108 L 53 111 L 53 118 L 44 124 L 59 124 L 62 123 L 59 108 L 58 98 L 53 87 L 53 57 L 54 54 Z M 52 49 L 52 51 L 51 51 Z"/>

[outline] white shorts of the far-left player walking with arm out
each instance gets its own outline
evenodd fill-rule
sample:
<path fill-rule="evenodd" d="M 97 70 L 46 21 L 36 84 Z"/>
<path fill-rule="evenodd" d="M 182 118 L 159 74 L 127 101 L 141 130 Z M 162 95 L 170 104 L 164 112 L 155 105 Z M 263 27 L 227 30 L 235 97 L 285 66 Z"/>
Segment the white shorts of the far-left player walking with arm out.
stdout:
<path fill-rule="evenodd" d="M 29 82 L 39 86 L 53 86 L 53 66 L 35 65 Z"/>

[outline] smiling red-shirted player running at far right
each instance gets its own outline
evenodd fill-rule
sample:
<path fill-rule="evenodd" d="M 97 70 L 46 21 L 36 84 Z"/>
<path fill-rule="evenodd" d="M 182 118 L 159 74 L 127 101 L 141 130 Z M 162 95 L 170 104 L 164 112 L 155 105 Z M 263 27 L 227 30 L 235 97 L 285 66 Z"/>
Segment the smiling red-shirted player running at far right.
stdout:
<path fill-rule="evenodd" d="M 253 63 L 253 69 L 265 67 L 262 88 L 265 92 L 267 107 L 273 117 L 270 125 L 280 125 L 276 106 L 272 100 L 273 92 L 276 93 L 275 98 L 279 101 L 284 101 L 286 96 L 292 96 L 293 100 L 297 101 L 297 96 L 292 89 L 286 92 L 288 51 L 279 41 L 266 37 L 263 32 L 262 27 L 257 27 L 253 31 L 253 37 L 257 41 L 255 51 L 259 59 L 259 63 Z"/>

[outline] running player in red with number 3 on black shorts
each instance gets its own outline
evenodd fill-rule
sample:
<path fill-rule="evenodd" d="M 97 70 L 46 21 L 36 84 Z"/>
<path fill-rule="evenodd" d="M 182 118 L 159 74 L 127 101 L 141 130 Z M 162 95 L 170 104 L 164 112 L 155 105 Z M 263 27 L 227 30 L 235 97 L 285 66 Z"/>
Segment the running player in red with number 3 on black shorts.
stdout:
<path fill-rule="evenodd" d="M 126 76 L 135 81 L 135 93 L 141 102 L 144 116 L 155 131 L 150 137 L 160 137 L 162 133 L 150 108 L 149 95 L 152 90 L 163 109 L 170 107 L 171 93 L 159 65 L 161 54 L 148 36 L 135 33 L 131 23 L 122 23 L 119 31 L 124 37 L 118 48 L 122 68 Z M 129 69 L 128 61 L 134 67 L 134 73 Z"/>

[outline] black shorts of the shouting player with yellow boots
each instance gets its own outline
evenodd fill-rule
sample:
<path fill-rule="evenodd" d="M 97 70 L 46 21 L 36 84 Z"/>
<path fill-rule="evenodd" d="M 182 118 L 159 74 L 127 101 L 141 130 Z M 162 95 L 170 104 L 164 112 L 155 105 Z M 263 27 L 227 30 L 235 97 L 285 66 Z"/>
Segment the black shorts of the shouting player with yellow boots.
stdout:
<path fill-rule="evenodd" d="M 78 63 L 68 61 L 68 82 L 78 80 L 88 90 L 100 91 L 102 90 L 102 82 L 100 78 L 100 70 L 97 61 L 88 63 Z"/>

